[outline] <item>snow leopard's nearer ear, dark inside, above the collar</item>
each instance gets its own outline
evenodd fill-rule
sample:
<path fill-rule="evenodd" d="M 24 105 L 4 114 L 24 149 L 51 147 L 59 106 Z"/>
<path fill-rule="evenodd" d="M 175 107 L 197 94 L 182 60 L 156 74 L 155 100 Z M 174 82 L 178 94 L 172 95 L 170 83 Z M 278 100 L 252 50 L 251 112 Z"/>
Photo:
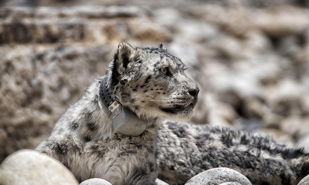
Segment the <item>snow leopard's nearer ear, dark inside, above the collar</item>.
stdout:
<path fill-rule="evenodd" d="M 118 49 L 114 54 L 116 68 L 119 72 L 125 70 L 131 61 L 134 61 L 137 55 L 136 49 L 130 44 L 122 42 L 119 43 Z"/>

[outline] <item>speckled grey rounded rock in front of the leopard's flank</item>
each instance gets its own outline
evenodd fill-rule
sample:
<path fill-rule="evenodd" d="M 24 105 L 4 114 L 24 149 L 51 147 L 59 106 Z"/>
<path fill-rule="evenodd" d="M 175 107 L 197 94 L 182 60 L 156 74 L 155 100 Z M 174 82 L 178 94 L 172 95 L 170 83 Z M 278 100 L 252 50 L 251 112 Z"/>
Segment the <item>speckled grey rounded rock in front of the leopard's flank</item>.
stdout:
<path fill-rule="evenodd" d="M 219 185 L 227 182 L 251 185 L 250 181 L 243 174 L 225 167 L 203 171 L 188 180 L 185 185 Z"/>

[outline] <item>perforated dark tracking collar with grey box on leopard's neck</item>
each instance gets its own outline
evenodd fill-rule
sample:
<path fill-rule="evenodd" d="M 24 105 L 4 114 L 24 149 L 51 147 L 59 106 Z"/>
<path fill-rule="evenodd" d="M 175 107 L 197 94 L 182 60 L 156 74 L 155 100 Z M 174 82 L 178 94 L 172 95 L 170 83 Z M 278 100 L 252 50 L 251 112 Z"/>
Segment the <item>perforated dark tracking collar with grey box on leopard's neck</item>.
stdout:
<path fill-rule="evenodd" d="M 112 69 L 114 60 L 109 64 L 109 68 Z M 102 102 L 112 112 L 112 122 L 114 130 L 130 135 L 138 136 L 146 128 L 146 120 L 140 119 L 136 114 L 132 113 L 130 110 L 119 104 L 113 99 L 112 94 L 112 79 L 111 73 L 106 73 L 104 79 L 100 83 L 100 92 Z"/>

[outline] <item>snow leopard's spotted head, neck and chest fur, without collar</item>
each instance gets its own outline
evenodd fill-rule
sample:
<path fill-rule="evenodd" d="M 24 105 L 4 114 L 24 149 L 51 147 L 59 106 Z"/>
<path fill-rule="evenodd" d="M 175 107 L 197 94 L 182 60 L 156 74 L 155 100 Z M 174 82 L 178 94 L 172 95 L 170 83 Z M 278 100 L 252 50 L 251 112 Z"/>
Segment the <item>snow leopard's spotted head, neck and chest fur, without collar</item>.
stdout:
<path fill-rule="evenodd" d="M 163 45 L 133 48 L 120 43 L 106 72 L 107 85 L 116 101 L 146 119 L 145 131 L 133 137 L 113 130 L 111 112 L 99 97 L 101 77 L 66 110 L 36 150 L 58 159 L 80 182 L 102 178 L 113 185 L 155 184 L 159 123 L 168 117 L 188 119 L 197 102 L 198 86 L 184 68 Z"/>

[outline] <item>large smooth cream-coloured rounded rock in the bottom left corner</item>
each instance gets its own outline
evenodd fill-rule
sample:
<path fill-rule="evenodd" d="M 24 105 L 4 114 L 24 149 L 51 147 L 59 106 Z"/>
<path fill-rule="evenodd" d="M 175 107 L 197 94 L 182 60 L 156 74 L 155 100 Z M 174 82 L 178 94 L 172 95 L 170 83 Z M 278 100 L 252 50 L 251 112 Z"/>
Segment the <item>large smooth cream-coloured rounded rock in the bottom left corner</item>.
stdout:
<path fill-rule="evenodd" d="M 2 185 L 78 185 L 74 175 L 56 159 L 35 150 L 19 150 L 0 165 Z"/>

